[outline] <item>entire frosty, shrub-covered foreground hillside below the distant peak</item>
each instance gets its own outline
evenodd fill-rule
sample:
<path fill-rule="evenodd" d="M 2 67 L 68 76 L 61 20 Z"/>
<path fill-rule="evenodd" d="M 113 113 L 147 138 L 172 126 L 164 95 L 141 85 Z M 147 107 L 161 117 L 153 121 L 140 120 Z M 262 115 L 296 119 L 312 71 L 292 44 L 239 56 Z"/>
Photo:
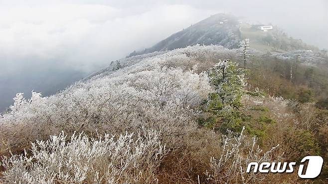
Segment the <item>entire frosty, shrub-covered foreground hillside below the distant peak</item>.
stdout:
<path fill-rule="evenodd" d="M 120 60 L 52 96 L 33 92 L 26 100 L 18 93 L 11 111 L 0 116 L 0 154 L 10 150 L 23 156 L 1 161 L 6 170 L 0 182 L 305 182 L 296 173 L 240 170 L 254 160 L 296 161 L 320 154 L 327 147 L 321 136 L 327 126 L 324 112 L 317 114 L 311 103 L 299 104 L 299 113 L 281 97 L 235 94 L 229 89 L 238 84 L 229 81 L 241 82 L 241 88 L 246 81 L 235 75 L 240 69 L 234 64 L 227 65 L 226 79 L 217 70 L 216 82 L 225 84 L 217 86 L 206 71 L 229 63 L 220 59 L 238 61 L 240 55 L 237 49 L 194 45 Z M 218 91 L 226 98 L 217 97 Z M 225 106 L 230 99 L 239 107 Z M 308 109 L 313 113 L 303 113 Z M 234 154 L 218 165 L 229 153 Z"/>

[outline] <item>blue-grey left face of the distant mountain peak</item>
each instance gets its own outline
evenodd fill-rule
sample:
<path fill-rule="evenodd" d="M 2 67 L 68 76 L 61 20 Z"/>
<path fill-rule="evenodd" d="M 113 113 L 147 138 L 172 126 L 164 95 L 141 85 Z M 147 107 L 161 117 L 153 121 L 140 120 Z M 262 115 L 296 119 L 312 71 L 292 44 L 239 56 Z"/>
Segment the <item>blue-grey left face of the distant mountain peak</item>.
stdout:
<path fill-rule="evenodd" d="M 236 17 L 226 14 L 212 15 L 190 27 L 172 34 L 153 47 L 134 51 L 128 57 L 155 51 L 184 48 L 188 45 L 222 45 L 237 48 L 240 41 L 239 23 Z"/>

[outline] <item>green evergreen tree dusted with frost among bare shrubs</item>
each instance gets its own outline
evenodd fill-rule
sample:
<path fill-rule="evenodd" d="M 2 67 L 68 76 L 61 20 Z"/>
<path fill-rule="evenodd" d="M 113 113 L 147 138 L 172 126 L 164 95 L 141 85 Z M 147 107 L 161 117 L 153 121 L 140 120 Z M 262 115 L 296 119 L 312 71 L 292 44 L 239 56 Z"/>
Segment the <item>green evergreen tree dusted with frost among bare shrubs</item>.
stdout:
<path fill-rule="evenodd" d="M 242 96 L 245 94 L 245 73 L 238 64 L 230 60 L 219 61 L 208 70 L 208 77 L 214 86 L 214 92 L 209 93 L 204 112 L 207 117 L 200 119 L 201 123 L 213 127 L 218 121 L 223 123 L 222 130 L 227 127 L 241 128 L 240 111 Z M 238 122 L 236 122 L 238 121 Z M 234 125 L 234 123 L 239 123 Z"/>

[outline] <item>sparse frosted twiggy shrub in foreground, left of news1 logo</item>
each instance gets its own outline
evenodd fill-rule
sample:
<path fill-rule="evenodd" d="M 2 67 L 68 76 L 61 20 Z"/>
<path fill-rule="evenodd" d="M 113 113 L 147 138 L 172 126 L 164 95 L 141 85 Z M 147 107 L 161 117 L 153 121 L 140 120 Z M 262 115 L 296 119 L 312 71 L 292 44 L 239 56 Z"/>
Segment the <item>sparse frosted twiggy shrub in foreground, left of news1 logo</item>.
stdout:
<path fill-rule="evenodd" d="M 265 180 L 269 182 L 269 175 L 259 173 L 246 173 L 246 168 L 251 162 L 271 162 L 272 154 L 279 145 L 272 147 L 267 152 L 256 144 L 256 138 L 247 138 L 243 135 L 244 128 L 240 135 L 233 135 L 228 131 L 227 135 L 222 136 L 222 148 L 216 156 L 210 159 L 210 170 L 206 172 L 208 181 L 215 184 L 254 184 Z M 278 157 L 278 159 L 280 159 Z"/>

